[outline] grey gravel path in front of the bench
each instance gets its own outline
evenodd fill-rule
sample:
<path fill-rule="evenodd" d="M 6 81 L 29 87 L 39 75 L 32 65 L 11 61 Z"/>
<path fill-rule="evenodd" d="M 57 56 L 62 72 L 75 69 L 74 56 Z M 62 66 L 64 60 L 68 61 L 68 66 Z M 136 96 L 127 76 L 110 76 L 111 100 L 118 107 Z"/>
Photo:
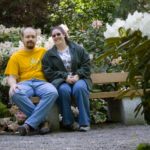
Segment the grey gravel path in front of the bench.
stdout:
<path fill-rule="evenodd" d="M 150 143 L 150 126 L 105 124 L 85 133 L 0 135 L 0 150 L 135 150 L 139 143 Z"/>

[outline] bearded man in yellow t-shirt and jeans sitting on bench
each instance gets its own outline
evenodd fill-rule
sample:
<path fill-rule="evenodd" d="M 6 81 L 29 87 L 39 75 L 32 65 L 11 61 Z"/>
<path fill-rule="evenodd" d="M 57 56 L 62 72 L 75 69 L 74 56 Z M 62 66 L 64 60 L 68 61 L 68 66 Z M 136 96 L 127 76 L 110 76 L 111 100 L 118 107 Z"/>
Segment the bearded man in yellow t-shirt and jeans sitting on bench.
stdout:
<path fill-rule="evenodd" d="M 18 128 L 20 135 L 26 135 L 46 121 L 46 116 L 58 98 L 58 93 L 52 84 L 46 82 L 42 72 L 41 59 L 46 50 L 35 47 L 36 30 L 27 27 L 22 31 L 21 36 L 24 48 L 11 56 L 5 75 L 8 76 L 12 102 L 28 117 Z M 30 100 L 32 96 L 40 98 L 37 105 Z"/>

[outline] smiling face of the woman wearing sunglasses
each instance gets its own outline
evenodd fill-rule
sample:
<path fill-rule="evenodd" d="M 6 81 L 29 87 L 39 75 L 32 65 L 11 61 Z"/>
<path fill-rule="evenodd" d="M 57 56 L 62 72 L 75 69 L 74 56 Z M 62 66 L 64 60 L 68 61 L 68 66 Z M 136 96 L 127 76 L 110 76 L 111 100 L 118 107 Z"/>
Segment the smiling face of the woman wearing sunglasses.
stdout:
<path fill-rule="evenodd" d="M 59 29 L 52 31 L 52 38 L 56 46 L 65 43 L 65 35 Z"/>

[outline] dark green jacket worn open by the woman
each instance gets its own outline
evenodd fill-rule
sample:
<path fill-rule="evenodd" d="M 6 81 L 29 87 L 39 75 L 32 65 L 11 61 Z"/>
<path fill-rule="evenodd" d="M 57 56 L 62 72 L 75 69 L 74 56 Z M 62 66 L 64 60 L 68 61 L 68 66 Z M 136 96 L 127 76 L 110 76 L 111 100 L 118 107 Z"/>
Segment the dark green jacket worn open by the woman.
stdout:
<path fill-rule="evenodd" d="M 88 53 L 76 43 L 69 42 L 68 46 L 71 54 L 71 72 L 78 74 L 80 79 L 84 79 L 90 90 L 92 82 Z M 56 46 L 46 52 L 42 60 L 42 66 L 46 79 L 53 85 L 58 87 L 61 83 L 65 82 L 68 72 L 57 53 Z"/>

